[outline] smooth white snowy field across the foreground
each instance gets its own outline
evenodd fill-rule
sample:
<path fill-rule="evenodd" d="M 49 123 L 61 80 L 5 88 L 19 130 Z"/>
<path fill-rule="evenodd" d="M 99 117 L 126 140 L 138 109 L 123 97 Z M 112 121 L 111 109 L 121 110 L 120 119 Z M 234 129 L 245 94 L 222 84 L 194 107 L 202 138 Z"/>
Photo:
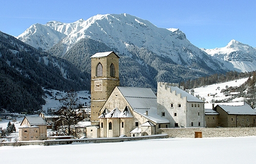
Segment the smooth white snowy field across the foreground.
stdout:
<path fill-rule="evenodd" d="M 255 163 L 256 136 L 0 147 L 1 163 Z"/>

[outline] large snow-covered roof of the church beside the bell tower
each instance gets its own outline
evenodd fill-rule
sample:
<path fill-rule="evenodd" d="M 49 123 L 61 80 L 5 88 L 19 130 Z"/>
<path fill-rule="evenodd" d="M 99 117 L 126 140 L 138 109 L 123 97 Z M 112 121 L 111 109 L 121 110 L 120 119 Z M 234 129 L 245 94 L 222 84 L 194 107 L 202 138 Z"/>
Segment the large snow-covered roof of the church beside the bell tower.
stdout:
<path fill-rule="evenodd" d="M 157 124 L 169 123 L 167 119 L 157 115 L 157 97 L 151 88 L 118 86 L 118 89 L 135 112 Z"/>

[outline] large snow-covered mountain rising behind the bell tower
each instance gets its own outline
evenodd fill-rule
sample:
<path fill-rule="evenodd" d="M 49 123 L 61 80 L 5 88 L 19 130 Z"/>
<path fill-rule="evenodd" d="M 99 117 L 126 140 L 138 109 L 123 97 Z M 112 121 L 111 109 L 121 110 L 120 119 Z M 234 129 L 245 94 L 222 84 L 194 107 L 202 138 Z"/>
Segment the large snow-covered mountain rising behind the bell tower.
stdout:
<path fill-rule="evenodd" d="M 90 74 L 93 54 L 115 51 L 120 56 L 123 86 L 156 88 L 157 81 L 180 82 L 236 70 L 191 44 L 179 29 L 158 28 L 129 14 L 96 15 L 72 23 L 50 21 L 41 30 L 34 27 L 18 38 L 36 48 L 44 45 L 42 49 L 71 61 L 82 72 Z M 49 29 L 56 35 L 46 39 Z"/>

